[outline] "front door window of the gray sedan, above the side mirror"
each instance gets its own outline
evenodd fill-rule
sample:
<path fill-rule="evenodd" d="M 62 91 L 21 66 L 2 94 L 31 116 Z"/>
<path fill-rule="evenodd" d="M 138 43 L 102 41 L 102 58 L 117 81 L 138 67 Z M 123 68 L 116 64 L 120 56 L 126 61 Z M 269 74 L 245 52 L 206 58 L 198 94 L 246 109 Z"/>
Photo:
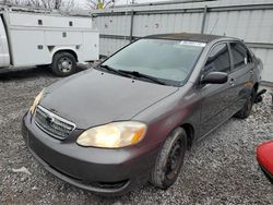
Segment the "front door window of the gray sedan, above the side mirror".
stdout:
<path fill-rule="evenodd" d="M 230 58 L 226 44 L 216 45 L 211 51 L 203 69 L 203 74 L 210 72 L 226 72 L 230 71 Z"/>

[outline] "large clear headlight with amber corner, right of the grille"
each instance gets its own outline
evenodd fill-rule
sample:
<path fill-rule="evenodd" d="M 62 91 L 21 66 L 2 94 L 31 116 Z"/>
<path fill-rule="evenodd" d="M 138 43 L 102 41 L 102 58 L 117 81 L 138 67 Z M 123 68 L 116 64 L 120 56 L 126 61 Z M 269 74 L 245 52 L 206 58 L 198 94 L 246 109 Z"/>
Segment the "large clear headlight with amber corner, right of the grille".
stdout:
<path fill-rule="evenodd" d="M 114 122 L 92 128 L 82 133 L 76 143 L 82 146 L 119 148 L 139 143 L 146 133 L 141 122 Z"/>

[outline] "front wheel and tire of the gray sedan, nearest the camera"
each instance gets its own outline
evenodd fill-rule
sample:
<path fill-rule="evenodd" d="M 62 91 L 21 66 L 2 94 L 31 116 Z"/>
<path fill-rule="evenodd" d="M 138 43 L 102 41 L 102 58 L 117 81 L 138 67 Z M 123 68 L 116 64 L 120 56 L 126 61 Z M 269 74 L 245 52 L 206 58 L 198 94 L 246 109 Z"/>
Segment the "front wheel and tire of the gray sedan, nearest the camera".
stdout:
<path fill-rule="evenodd" d="M 163 190 L 173 185 L 179 176 L 186 150 L 186 131 L 182 128 L 177 128 L 170 133 L 158 153 L 150 182 Z"/>

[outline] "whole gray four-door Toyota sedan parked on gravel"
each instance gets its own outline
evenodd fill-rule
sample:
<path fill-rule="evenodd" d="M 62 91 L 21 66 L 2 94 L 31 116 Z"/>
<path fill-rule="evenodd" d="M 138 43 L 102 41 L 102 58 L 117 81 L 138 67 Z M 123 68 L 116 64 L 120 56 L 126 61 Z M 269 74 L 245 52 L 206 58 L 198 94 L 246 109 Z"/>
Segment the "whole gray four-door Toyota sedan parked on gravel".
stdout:
<path fill-rule="evenodd" d="M 250 114 L 261 99 L 260 63 L 237 38 L 147 36 L 43 89 L 22 133 L 49 172 L 79 188 L 167 189 L 195 141 Z"/>

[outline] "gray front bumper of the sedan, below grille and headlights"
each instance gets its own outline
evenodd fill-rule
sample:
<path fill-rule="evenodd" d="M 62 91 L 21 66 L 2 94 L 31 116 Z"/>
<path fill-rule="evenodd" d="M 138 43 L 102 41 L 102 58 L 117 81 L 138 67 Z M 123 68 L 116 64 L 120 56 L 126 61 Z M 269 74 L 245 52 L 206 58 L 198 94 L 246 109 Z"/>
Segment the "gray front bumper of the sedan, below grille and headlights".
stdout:
<path fill-rule="evenodd" d="M 120 149 L 81 147 L 75 130 L 64 141 L 43 132 L 29 113 L 22 123 L 22 135 L 33 156 L 61 180 L 103 195 L 120 195 L 145 183 L 158 148 L 136 146 Z"/>

